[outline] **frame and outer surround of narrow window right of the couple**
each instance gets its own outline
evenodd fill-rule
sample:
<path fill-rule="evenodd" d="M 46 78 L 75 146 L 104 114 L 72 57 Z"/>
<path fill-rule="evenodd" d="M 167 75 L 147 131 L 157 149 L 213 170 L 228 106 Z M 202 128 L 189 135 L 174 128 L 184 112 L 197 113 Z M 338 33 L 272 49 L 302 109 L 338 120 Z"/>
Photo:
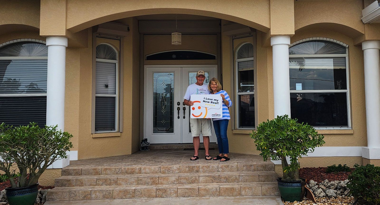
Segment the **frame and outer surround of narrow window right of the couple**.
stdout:
<path fill-rule="evenodd" d="M 256 66 L 256 45 L 255 45 L 255 35 L 251 35 L 251 36 L 244 36 L 242 38 L 253 38 L 253 42 L 249 42 L 249 41 L 244 41 L 240 44 L 238 44 L 239 46 L 236 48 L 236 50 L 233 52 L 233 60 L 234 60 L 234 68 L 233 68 L 233 74 L 234 74 L 234 101 L 235 101 L 235 105 L 234 105 L 234 117 L 235 117 L 235 123 L 234 123 L 234 129 L 237 129 L 237 130 L 254 130 L 256 129 L 257 127 L 257 119 L 258 119 L 258 113 L 257 113 L 257 95 L 256 95 L 256 86 L 255 84 L 257 83 L 257 66 Z M 235 39 L 239 39 L 239 38 L 235 38 Z M 235 40 L 233 39 L 233 40 Z M 245 44 L 252 44 L 253 46 L 253 57 L 249 57 L 249 58 L 237 58 L 237 53 L 239 52 L 239 50 L 241 49 L 241 47 Z M 244 61 L 253 61 L 253 67 L 252 68 L 245 68 L 245 69 L 241 69 L 239 70 L 238 69 L 238 63 L 239 62 L 244 62 Z M 254 91 L 253 92 L 237 92 L 238 91 L 238 88 L 239 88 L 239 82 L 238 82 L 238 78 L 239 78 L 239 71 L 245 71 L 245 70 L 253 70 L 253 86 L 254 86 Z M 252 95 L 254 96 L 254 107 L 255 107 L 255 125 L 253 127 L 243 127 L 243 126 L 239 126 L 239 120 L 240 120 L 240 116 L 239 116 L 239 113 L 240 113 L 240 103 L 239 103 L 239 95 Z"/>

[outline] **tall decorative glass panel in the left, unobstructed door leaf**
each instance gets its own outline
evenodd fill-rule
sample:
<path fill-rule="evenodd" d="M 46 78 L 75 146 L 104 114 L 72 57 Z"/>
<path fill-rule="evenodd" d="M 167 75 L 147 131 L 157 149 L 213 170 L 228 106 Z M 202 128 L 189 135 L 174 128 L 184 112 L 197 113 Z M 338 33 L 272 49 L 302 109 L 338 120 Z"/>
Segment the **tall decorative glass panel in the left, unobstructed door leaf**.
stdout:
<path fill-rule="evenodd" d="M 174 72 L 153 73 L 153 133 L 174 133 Z"/>

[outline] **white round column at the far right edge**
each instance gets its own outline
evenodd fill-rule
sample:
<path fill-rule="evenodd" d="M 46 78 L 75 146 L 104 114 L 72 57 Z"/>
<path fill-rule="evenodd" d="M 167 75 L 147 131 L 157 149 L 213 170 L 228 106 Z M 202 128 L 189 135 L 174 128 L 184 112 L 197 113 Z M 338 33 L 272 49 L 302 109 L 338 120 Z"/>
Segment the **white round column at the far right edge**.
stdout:
<path fill-rule="evenodd" d="M 367 147 L 363 157 L 380 159 L 380 41 L 364 41 Z"/>

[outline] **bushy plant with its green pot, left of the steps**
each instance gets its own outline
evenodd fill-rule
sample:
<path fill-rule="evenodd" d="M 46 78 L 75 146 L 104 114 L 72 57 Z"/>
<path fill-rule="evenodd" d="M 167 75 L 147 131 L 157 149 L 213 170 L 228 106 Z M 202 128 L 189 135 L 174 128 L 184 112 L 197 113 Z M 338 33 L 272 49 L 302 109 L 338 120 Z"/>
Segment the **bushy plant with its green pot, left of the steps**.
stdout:
<path fill-rule="evenodd" d="M 39 127 L 36 123 L 12 127 L 0 125 L 0 170 L 11 183 L 6 188 L 9 205 L 34 205 L 38 178 L 54 161 L 67 158 L 73 145 L 67 132 L 57 126 Z M 19 175 L 14 178 L 18 169 Z"/>

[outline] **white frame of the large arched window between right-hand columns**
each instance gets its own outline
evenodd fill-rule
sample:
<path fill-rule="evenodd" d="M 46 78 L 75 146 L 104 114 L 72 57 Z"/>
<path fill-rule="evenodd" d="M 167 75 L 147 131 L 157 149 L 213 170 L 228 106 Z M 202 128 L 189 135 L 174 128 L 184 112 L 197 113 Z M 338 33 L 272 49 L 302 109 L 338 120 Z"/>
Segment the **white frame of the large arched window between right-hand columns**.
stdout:
<path fill-rule="evenodd" d="M 320 41 L 328 41 L 325 39 L 310 39 L 307 41 L 312 40 L 320 40 Z M 301 42 L 307 42 L 307 41 L 301 41 Z M 296 44 L 292 44 L 291 46 L 297 45 L 301 42 L 298 42 Z M 317 92 L 341 92 L 346 94 L 346 106 L 347 106 L 347 127 L 316 127 L 313 126 L 316 130 L 351 130 L 352 124 L 351 124 L 351 100 L 350 100 L 350 75 L 349 75 L 349 61 L 348 61 L 348 45 L 342 45 L 336 42 L 336 40 L 331 41 L 333 43 L 336 43 L 338 45 L 346 47 L 346 53 L 345 54 L 289 54 L 289 60 L 291 58 L 334 58 L 334 57 L 344 57 L 346 59 L 346 79 L 347 79 L 347 89 L 330 89 L 330 90 L 290 90 L 290 93 L 300 93 L 300 91 L 304 93 L 317 93 Z M 339 42 L 339 41 L 338 41 Z M 291 47 L 290 46 L 290 47 Z M 290 48 L 289 47 L 289 48 Z M 289 79 L 290 80 L 290 79 Z M 290 96 L 289 96 L 290 98 Z"/>

